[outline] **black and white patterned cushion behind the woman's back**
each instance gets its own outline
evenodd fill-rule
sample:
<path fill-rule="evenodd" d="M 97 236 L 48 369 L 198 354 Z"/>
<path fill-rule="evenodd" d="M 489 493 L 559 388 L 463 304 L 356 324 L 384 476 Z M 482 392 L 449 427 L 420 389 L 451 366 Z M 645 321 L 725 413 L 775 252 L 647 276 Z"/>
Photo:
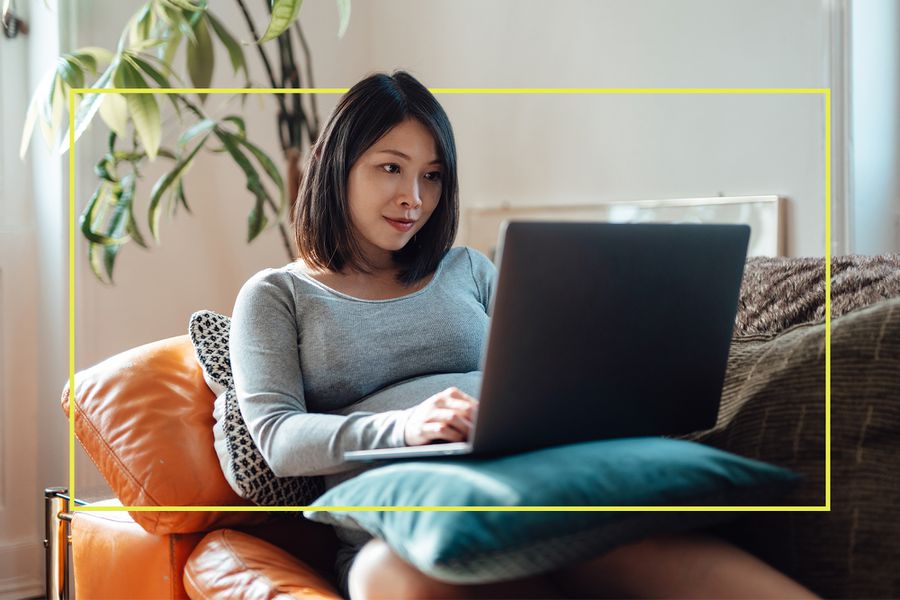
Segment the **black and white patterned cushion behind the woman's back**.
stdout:
<path fill-rule="evenodd" d="M 322 477 L 276 477 L 250 437 L 238 407 L 231 375 L 228 335 L 231 319 L 202 310 L 191 315 L 188 333 L 203 368 L 203 377 L 217 395 L 224 395 L 220 419 L 227 456 L 226 479 L 242 498 L 260 506 L 306 506 L 325 491 Z"/>

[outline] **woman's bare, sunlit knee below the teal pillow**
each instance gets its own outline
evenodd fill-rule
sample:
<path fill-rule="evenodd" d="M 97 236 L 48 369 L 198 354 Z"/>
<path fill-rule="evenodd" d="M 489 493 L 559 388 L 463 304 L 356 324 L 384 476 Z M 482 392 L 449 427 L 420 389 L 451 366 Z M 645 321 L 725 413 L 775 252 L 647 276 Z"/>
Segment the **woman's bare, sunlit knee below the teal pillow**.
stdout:
<path fill-rule="evenodd" d="M 379 539 L 359 551 L 350 567 L 347 587 L 353 600 L 459 597 L 458 586 L 428 577 Z"/>

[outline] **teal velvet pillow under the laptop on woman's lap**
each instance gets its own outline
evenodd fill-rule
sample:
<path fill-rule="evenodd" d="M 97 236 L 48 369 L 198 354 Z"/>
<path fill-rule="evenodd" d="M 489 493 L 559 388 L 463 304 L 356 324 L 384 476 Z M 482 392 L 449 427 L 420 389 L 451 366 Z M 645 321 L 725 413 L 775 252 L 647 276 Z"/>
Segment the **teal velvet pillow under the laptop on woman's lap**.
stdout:
<path fill-rule="evenodd" d="M 628 438 L 491 459 L 412 460 L 345 481 L 312 506 L 766 505 L 798 477 L 697 444 Z M 580 511 L 306 511 L 364 529 L 420 571 L 486 583 L 550 571 L 656 533 L 735 513 Z"/>

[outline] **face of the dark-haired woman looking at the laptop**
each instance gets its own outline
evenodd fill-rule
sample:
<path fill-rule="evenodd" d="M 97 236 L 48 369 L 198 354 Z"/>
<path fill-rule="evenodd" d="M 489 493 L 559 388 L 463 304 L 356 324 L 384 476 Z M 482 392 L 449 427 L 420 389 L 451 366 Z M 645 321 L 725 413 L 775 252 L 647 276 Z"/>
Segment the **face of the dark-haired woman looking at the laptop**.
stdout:
<path fill-rule="evenodd" d="M 434 138 L 415 119 L 388 131 L 350 168 L 350 219 L 366 258 L 393 264 L 428 221 L 441 197 L 441 163 Z"/>

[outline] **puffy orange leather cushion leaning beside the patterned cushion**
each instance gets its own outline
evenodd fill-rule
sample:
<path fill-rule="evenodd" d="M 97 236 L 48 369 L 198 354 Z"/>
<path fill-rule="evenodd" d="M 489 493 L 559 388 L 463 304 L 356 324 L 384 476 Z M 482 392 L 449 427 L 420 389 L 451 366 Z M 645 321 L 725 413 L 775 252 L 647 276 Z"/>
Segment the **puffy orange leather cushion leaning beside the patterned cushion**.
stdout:
<path fill-rule="evenodd" d="M 75 435 L 125 506 L 223 506 L 247 501 L 213 450 L 213 396 L 188 336 L 117 354 L 75 376 Z M 68 415 L 70 393 L 63 391 Z M 143 512 L 150 533 L 258 522 L 253 512 Z"/>

